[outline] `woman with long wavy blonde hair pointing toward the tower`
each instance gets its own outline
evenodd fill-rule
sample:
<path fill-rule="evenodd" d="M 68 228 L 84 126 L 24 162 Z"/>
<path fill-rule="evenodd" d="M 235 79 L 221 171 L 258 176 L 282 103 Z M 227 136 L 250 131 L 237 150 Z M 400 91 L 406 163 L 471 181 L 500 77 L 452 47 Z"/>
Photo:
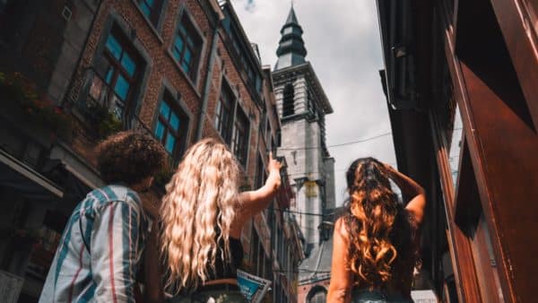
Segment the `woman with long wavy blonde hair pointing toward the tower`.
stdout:
<path fill-rule="evenodd" d="M 175 302 L 246 302 L 236 270 L 243 225 L 267 207 L 281 183 L 270 154 L 265 186 L 239 193 L 239 164 L 215 139 L 195 143 L 166 186 L 160 252 L 164 289 Z"/>

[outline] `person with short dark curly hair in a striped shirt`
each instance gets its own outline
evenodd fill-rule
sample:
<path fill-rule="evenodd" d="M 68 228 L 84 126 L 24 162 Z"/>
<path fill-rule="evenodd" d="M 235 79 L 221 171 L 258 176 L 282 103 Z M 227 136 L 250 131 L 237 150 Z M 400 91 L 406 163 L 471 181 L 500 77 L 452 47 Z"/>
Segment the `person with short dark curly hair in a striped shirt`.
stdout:
<path fill-rule="evenodd" d="M 136 272 L 150 220 L 136 192 L 152 185 L 166 152 L 151 136 L 113 134 L 97 146 L 97 167 L 108 184 L 75 209 L 39 302 L 133 302 Z"/>

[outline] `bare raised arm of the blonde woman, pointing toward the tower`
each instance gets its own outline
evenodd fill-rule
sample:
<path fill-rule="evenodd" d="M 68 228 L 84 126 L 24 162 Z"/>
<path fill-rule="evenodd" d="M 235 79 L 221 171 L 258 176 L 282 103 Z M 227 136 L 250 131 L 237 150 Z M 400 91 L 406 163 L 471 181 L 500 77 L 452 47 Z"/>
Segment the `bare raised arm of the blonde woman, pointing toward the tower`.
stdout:
<path fill-rule="evenodd" d="M 273 153 L 269 153 L 269 164 L 267 165 L 269 176 L 265 180 L 265 185 L 239 195 L 239 203 L 241 204 L 244 219 L 248 219 L 258 212 L 262 212 L 269 205 L 281 185 L 281 167 L 282 164 L 278 160 L 273 159 Z"/>

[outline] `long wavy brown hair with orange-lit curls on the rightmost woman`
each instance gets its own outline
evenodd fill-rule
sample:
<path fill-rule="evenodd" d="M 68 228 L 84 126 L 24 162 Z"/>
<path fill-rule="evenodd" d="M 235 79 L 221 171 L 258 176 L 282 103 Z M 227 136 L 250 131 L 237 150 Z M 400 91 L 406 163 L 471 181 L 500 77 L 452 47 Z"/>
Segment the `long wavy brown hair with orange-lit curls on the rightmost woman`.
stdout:
<path fill-rule="evenodd" d="M 399 269 L 397 264 L 413 255 L 408 212 L 378 160 L 353 161 L 346 179 L 350 198 L 343 221 L 351 243 L 348 264 L 356 283 L 384 288 Z"/>

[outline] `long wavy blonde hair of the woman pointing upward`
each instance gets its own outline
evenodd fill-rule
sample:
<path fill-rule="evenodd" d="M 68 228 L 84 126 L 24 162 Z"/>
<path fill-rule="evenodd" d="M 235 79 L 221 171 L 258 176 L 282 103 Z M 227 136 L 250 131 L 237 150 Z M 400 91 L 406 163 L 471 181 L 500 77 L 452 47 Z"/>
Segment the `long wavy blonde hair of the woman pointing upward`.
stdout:
<path fill-rule="evenodd" d="M 166 186 L 161 204 L 165 289 L 195 290 L 214 271 L 217 243 L 230 255 L 230 225 L 238 203 L 239 165 L 215 139 L 195 143 Z M 220 232 L 218 231 L 220 230 Z"/>

